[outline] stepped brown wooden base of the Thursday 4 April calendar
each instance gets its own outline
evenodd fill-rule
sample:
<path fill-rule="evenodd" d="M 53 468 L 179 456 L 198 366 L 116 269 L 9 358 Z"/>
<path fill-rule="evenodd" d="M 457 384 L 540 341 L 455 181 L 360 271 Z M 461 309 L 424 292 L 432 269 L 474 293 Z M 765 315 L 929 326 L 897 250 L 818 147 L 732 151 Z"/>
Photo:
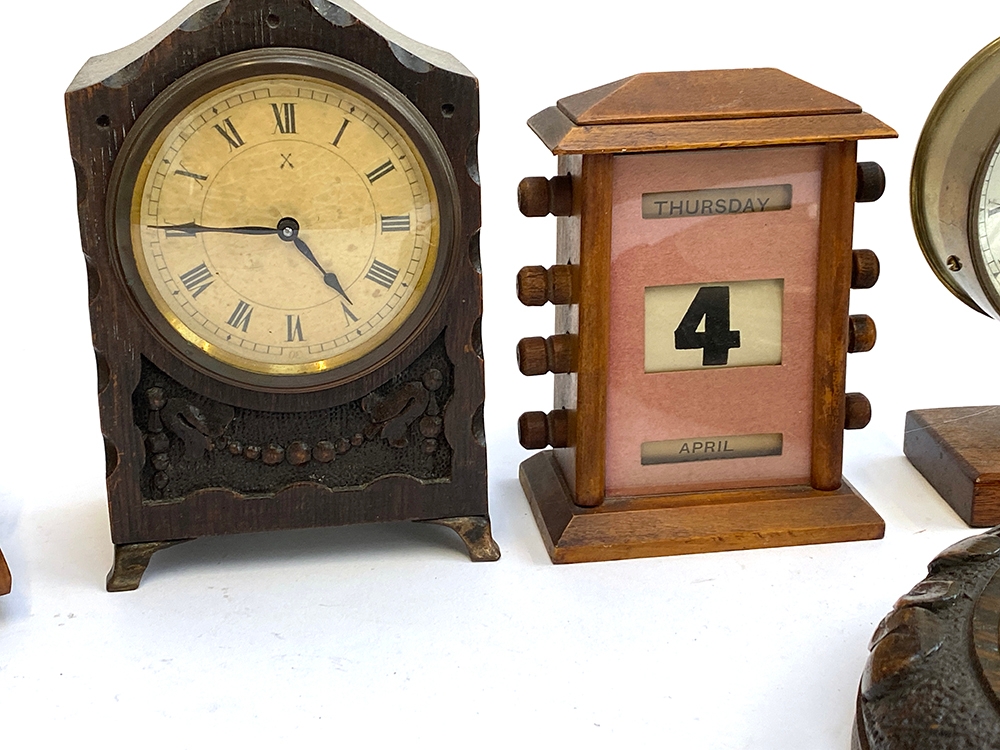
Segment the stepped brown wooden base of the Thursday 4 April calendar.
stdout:
<path fill-rule="evenodd" d="M 573 502 L 552 451 L 521 464 L 524 489 L 555 563 L 881 539 L 885 523 L 846 481 Z"/>

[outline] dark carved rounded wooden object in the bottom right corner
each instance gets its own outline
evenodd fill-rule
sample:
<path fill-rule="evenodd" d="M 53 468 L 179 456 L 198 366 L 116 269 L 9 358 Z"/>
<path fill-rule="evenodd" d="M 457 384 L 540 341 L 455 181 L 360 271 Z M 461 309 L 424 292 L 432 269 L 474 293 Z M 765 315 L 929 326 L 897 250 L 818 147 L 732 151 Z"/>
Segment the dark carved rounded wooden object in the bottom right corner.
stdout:
<path fill-rule="evenodd" d="M 1000 748 L 1000 528 L 927 570 L 872 636 L 854 750 Z"/>

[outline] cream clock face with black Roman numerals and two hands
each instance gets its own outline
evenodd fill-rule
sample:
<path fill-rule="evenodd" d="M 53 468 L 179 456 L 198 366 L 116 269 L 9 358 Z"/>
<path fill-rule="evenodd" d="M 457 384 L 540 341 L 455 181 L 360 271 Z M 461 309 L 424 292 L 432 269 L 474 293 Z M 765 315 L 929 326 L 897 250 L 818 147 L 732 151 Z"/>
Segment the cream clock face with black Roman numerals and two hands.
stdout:
<path fill-rule="evenodd" d="M 184 107 L 146 152 L 130 215 L 158 312 L 252 373 L 321 373 L 373 351 L 438 260 L 438 198 L 413 141 L 369 99 L 309 76 L 247 78 Z"/>

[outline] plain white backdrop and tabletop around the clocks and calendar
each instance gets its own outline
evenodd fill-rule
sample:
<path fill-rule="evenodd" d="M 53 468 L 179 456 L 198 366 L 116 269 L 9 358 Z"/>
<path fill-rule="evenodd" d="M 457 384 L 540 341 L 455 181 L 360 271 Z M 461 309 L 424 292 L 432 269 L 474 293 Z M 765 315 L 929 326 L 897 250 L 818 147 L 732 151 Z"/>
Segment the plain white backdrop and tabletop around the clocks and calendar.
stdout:
<path fill-rule="evenodd" d="M 275 0 L 278 5 L 278 0 Z M 914 240 L 909 165 L 958 68 L 1000 34 L 984 0 L 597 3 L 367 0 L 479 76 L 487 427 L 494 564 L 416 524 L 206 539 L 104 592 L 104 457 L 62 94 L 87 57 L 131 43 L 181 0 L 58 0 L 5 10 L 0 744 L 89 737 L 147 747 L 848 747 L 867 641 L 926 563 L 969 535 L 902 456 L 907 409 L 1000 401 L 1000 325 L 936 281 Z M 926 7 L 926 11 L 919 8 Z M 815 8 L 815 9 L 814 9 Z M 774 66 L 900 132 L 859 155 L 888 175 L 855 247 L 882 280 L 852 294 L 878 325 L 849 358 L 874 406 L 845 474 L 885 539 L 553 566 L 516 481 L 517 416 L 551 383 L 516 369 L 552 331 L 514 275 L 554 262 L 554 220 L 515 187 L 555 158 L 525 126 L 556 99 L 657 70 Z"/>

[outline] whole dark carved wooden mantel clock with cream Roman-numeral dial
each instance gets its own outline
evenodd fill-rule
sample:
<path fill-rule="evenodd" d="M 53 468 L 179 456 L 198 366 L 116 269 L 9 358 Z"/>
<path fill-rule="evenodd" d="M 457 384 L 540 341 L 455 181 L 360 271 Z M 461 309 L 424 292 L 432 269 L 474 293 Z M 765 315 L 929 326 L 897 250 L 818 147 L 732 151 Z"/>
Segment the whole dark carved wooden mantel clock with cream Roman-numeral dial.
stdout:
<path fill-rule="evenodd" d="M 115 563 L 487 507 L 478 84 L 351 0 L 198 0 L 66 94 Z"/>

